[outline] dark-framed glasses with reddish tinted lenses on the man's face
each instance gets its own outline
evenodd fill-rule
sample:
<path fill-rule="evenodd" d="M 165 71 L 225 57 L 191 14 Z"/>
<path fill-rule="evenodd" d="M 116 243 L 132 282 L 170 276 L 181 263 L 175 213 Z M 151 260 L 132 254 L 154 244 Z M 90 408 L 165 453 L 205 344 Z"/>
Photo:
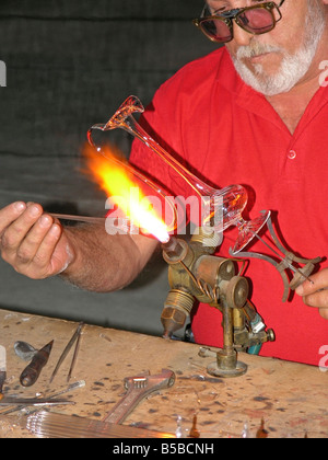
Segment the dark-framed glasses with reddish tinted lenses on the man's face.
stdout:
<path fill-rule="evenodd" d="M 234 37 L 233 20 L 244 31 L 254 35 L 266 34 L 276 27 L 282 15 L 279 4 L 273 1 L 267 1 L 253 7 L 237 8 L 223 11 L 218 14 L 211 14 L 208 5 L 204 7 L 201 18 L 194 20 L 194 24 L 212 42 L 227 43 Z"/>

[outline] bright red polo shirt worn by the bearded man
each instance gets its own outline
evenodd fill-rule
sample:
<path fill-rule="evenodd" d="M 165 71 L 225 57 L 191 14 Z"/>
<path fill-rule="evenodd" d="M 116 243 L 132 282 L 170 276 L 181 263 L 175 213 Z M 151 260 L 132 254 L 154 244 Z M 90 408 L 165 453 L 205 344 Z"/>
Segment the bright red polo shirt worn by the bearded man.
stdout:
<path fill-rule="evenodd" d="M 209 184 L 244 185 L 246 218 L 270 209 L 286 248 L 302 257 L 327 256 L 328 88 L 318 90 L 291 135 L 267 100 L 241 80 L 221 48 L 165 82 L 145 120 L 154 138 Z M 172 194 L 190 193 L 140 141 L 134 141 L 130 160 Z M 235 238 L 236 228 L 224 232 L 221 256 L 229 255 Z M 267 253 L 257 241 L 249 250 Z M 276 342 L 262 346 L 261 355 L 319 365 L 325 358 L 321 347 L 328 345 L 328 321 L 295 295 L 283 303 L 276 268 L 249 261 L 245 276 L 250 280 L 250 300 L 277 335 Z M 196 342 L 222 345 L 221 321 L 219 310 L 198 306 L 192 320 Z"/>

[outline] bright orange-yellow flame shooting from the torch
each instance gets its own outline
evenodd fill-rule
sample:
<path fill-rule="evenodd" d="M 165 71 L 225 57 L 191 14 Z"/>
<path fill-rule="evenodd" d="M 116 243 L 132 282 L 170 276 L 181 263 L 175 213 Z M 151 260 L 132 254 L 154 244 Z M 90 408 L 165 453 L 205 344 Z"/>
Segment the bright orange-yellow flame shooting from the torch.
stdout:
<path fill-rule="evenodd" d="M 141 191 L 127 160 L 117 147 L 103 148 L 103 153 L 86 145 L 83 153 L 86 159 L 87 173 L 94 182 L 114 197 L 115 204 L 141 232 L 152 234 L 162 243 L 169 240 L 168 229 L 157 216 L 153 204 Z M 105 158 L 106 157 L 106 158 Z M 131 170 L 131 168 L 130 168 Z"/>

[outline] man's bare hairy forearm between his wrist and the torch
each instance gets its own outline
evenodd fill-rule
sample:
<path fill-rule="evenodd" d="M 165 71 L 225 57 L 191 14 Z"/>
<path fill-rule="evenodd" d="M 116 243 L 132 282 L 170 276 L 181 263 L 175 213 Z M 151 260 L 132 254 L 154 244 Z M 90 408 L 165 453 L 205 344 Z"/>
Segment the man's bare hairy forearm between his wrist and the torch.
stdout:
<path fill-rule="evenodd" d="M 142 271 L 156 243 L 140 235 L 106 233 L 103 226 L 66 229 L 75 256 L 60 276 L 92 291 L 108 292 L 129 285 Z M 147 241 L 145 241 L 147 240 Z"/>

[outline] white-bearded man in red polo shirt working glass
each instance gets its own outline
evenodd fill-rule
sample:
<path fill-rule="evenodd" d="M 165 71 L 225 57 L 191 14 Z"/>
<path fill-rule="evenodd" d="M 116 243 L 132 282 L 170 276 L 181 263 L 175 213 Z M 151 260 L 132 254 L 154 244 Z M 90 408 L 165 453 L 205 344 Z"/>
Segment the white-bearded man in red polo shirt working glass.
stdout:
<path fill-rule="evenodd" d="M 328 89 L 321 64 L 328 59 L 328 0 L 209 0 L 197 24 L 225 46 L 163 84 L 142 123 L 216 188 L 245 185 L 250 217 L 271 209 L 293 252 L 327 255 Z M 175 195 L 188 193 L 154 157 L 134 142 L 138 168 Z M 97 291 L 129 284 L 156 246 L 142 235 L 109 237 L 102 227 L 62 229 L 39 205 L 24 203 L 0 210 L 0 235 L 2 257 L 17 272 L 32 278 L 61 274 Z M 234 240 L 226 231 L 219 253 L 227 255 Z M 251 251 L 263 248 L 257 242 Z M 251 260 L 246 273 L 251 300 L 277 334 L 262 354 L 318 365 L 328 345 L 327 262 L 286 304 L 280 276 L 267 265 Z M 200 304 L 192 331 L 198 343 L 220 345 L 220 312 Z"/>

